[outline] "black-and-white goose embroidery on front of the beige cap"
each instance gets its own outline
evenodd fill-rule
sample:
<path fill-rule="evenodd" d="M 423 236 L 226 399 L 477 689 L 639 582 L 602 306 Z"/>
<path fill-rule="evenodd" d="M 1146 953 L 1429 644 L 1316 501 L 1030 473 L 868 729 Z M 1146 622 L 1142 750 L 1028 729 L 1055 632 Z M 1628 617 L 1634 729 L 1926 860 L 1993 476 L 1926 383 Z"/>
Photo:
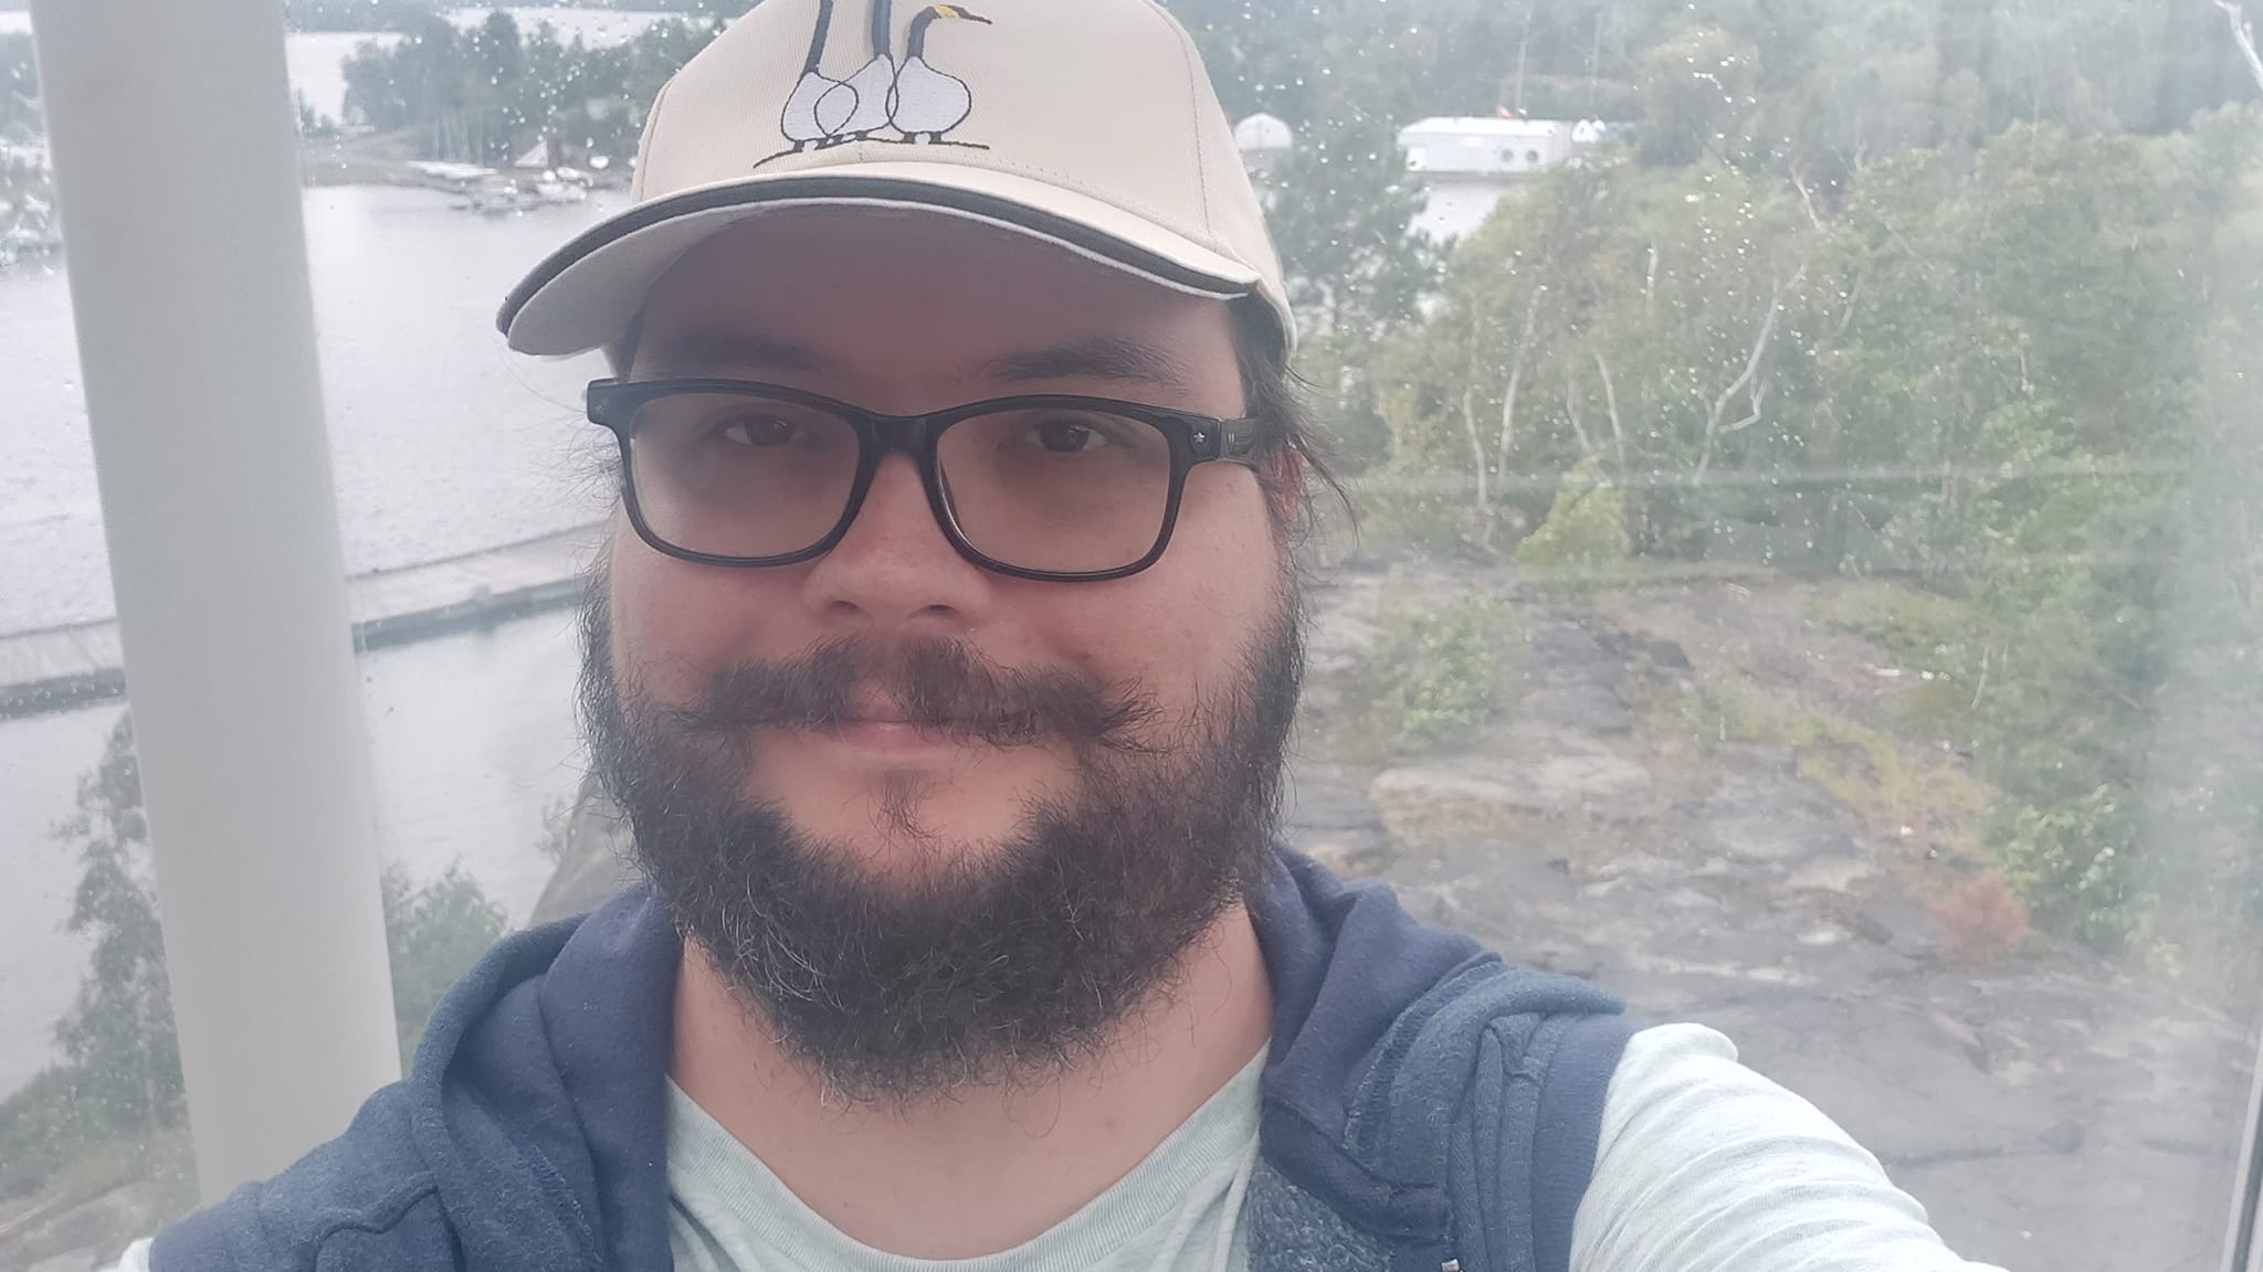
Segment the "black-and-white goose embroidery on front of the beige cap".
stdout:
<path fill-rule="evenodd" d="M 912 18 L 898 68 L 889 52 L 892 18 L 894 0 L 874 0 L 871 57 L 849 79 L 833 79 L 821 68 L 833 29 L 833 0 L 817 0 L 817 27 L 801 59 L 801 77 L 794 79 L 778 113 L 778 131 L 792 145 L 765 156 L 756 167 L 803 149 L 828 149 L 853 140 L 989 149 L 982 143 L 944 138 L 966 120 L 975 97 L 964 79 L 928 61 L 928 27 L 953 18 L 984 27 L 991 20 L 964 5 L 928 5 Z M 896 136 L 883 129 L 894 129 Z"/>

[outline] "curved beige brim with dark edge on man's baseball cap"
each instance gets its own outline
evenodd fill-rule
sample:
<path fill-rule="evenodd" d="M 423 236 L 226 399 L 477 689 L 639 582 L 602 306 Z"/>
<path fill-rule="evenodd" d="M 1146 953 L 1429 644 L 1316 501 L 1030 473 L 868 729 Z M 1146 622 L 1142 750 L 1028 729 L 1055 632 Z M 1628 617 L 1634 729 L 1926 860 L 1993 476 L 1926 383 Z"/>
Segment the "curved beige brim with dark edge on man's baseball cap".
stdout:
<path fill-rule="evenodd" d="M 638 204 L 579 233 L 502 301 L 496 326 L 520 353 L 611 344 L 686 251 L 778 208 L 914 208 L 1025 233 L 1197 296 L 1238 299 L 1260 274 L 1147 217 L 1046 181 L 955 163 L 860 163 L 699 186 Z M 1279 301 L 1267 296 L 1279 310 Z"/>

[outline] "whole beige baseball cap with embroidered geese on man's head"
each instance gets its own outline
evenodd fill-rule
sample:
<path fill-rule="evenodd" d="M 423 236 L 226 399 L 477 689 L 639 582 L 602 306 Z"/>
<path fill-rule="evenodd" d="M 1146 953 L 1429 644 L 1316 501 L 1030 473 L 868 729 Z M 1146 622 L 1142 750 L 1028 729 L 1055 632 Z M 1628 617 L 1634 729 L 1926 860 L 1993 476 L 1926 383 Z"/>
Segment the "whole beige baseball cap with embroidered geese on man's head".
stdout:
<path fill-rule="evenodd" d="M 810 206 L 1003 226 L 1294 333 L 1233 129 L 1154 0 L 760 0 L 661 88 L 631 197 L 502 301 L 511 349 L 611 344 L 688 249 Z"/>

